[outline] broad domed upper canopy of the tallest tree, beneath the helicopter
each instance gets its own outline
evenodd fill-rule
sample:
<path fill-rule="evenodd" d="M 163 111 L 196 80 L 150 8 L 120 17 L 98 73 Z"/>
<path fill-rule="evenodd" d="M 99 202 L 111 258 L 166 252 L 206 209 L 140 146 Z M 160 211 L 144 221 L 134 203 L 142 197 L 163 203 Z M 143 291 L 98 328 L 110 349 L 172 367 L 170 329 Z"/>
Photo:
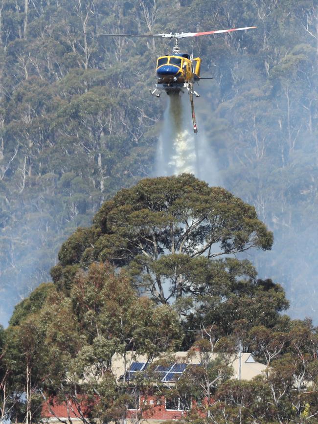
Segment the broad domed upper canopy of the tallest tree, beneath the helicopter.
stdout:
<path fill-rule="evenodd" d="M 272 244 L 254 207 L 227 190 L 189 174 L 143 179 L 106 201 L 91 228 L 69 237 L 52 277 L 68 288 L 71 270 L 93 261 L 130 265 L 136 285 L 166 303 L 189 290 L 204 260 Z"/>

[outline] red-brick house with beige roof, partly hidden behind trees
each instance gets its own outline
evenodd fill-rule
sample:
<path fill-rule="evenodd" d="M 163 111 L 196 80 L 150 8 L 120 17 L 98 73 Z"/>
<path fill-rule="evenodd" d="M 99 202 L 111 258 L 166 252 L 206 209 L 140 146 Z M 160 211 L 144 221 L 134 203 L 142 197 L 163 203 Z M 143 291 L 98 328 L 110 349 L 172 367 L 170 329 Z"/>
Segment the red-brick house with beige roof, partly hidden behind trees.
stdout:
<path fill-rule="evenodd" d="M 209 353 L 208 359 L 215 360 L 219 354 Z M 160 358 L 159 358 L 160 359 Z M 232 367 L 232 379 L 245 379 L 250 380 L 257 375 L 260 375 L 266 366 L 256 362 L 250 353 L 239 353 L 237 355 L 227 355 L 228 364 Z M 176 352 L 170 358 L 169 363 L 158 365 L 154 368 L 154 372 L 158 373 L 158 378 L 162 385 L 168 389 L 173 389 L 176 381 L 182 376 L 183 372 L 189 366 L 196 366 L 202 362 L 202 354 L 198 351 L 189 352 Z M 115 354 L 112 359 L 112 372 L 120 384 L 122 381 L 132 381 L 140 373 L 146 371 L 148 367 L 147 357 L 144 355 L 136 355 L 135 352 L 127 352 L 125 357 Z M 168 390 L 169 391 L 169 390 Z M 173 390 L 171 390 L 173 393 Z M 186 410 L 191 407 L 191 397 L 184 396 L 152 396 L 151 394 L 145 396 L 142 393 L 135 393 L 135 401 L 127 404 L 127 424 L 135 424 L 140 422 L 142 416 L 143 423 L 159 424 L 167 420 L 180 419 Z M 58 422 L 58 418 L 70 417 L 71 422 L 74 424 L 82 423 L 76 414 L 75 408 L 72 405 L 53 404 L 50 410 L 46 407 L 43 409 L 43 416 L 47 422 Z M 69 422 L 69 420 L 68 420 Z"/>

